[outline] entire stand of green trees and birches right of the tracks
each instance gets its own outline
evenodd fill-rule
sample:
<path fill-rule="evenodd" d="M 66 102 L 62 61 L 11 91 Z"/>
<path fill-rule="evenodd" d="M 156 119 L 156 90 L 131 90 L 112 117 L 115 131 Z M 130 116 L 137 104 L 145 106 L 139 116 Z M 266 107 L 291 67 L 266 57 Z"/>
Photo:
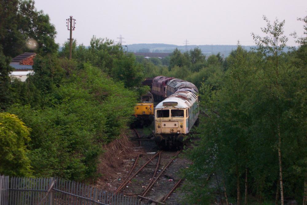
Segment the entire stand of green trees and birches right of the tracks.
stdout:
<path fill-rule="evenodd" d="M 238 46 L 225 60 L 223 83 L 201 86 L 187 203 L 306 203 L 306 37 L 284 53 L 284 21 L 264 19 L 271 38 L 252 34 L 258 49 Z"/>

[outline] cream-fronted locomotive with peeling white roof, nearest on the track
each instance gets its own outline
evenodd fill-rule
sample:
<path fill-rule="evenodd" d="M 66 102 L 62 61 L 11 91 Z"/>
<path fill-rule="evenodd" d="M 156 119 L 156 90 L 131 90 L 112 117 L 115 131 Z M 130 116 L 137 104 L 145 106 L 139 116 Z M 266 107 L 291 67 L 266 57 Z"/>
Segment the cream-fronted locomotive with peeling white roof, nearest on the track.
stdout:
<path fill-rule="evenodd" d="M 182 148 L 183 140 L 198 119 L 198 97 L 181 90 L 155 107 L 155 141 L 160 148 Z"/>

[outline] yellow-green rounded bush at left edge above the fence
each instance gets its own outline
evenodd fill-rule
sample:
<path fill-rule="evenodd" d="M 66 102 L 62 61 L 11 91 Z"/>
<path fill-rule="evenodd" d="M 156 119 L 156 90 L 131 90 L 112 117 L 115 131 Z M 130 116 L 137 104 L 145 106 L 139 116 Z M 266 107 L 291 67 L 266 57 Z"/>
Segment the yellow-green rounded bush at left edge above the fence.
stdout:
<path fill-rule="evenodd" d="M 26 144 L 30 131 L 16 115 L 0 113 L 0 173 L 10 176 L 30 176 L 30 160 Z"/>

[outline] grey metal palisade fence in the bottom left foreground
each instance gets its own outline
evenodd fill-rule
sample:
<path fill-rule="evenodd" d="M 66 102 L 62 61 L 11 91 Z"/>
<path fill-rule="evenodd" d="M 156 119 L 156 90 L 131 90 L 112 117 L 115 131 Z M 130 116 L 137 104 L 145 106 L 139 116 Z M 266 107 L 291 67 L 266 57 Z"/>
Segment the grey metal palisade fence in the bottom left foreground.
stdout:
<path fill-rule="evenodd" d="M 137 197 L 61 178 L 0 175 L 0 205 L 142 205 Z"/>

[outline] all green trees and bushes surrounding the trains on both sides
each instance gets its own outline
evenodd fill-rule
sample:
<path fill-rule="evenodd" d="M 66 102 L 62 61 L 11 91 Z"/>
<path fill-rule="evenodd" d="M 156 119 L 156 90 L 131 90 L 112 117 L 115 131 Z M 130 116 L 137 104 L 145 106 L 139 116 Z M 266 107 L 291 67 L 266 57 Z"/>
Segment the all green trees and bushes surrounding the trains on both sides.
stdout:
<path fill-rule="evenodd" d="M 95 178 L 99 156 L 122 136 L 148 90 L 142 80 L 165 75 L 200 90 L 200 141 L 188 151 L 185 203 L 306 202 L 307 37 L 285 53 L 284 22 L 265 18 L 262 30 L 271 38 L 253 34 L 257 50 L 238 45 L 225 59 L 199 48 L 146 59 L 93 36 L 88 48 L 74 41 L 68 60 L 68 42 L 56 50 L 54 27 L 32 1 L 1 6 L 9 11 L 0 14 L 1 174 Z M 26 20 L 34 33 L 20 27 Z M 300 20 L 306 30 L 307 17 Z M 34 74 L 11 79 L 10 58 L 31 51 L 29 38 L 39 42 Z"/>

